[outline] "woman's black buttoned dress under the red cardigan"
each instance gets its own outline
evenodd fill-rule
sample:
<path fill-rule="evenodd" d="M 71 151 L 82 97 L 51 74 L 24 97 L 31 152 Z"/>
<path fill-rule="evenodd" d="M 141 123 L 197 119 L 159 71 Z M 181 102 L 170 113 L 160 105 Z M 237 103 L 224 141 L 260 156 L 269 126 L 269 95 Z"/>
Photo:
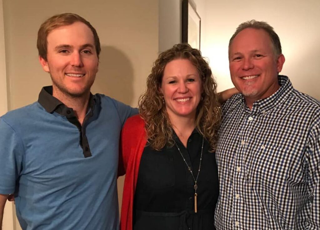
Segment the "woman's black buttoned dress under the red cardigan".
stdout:
<path fill-rule="evenodd" d="M 174 137 L 195 178 L 202 138 L 194 130 L 185 148 L 179 138 Z M 194 180 L 178 148 L 173 145 L 156 151 L 147 144 L 141 156 L 134 196 L 133 229 L 215 229 L 213 218 L 219 196 L 218 170 L 215 153 L 209 152 L 206 140 L 197 185 L 198 211 L 195 213 Z"/>

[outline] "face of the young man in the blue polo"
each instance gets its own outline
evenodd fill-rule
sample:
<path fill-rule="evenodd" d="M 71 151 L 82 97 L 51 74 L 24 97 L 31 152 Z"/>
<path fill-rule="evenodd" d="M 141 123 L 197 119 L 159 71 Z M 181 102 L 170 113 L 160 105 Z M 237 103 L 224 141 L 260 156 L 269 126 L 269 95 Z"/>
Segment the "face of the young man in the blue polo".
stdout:
<path fill-rule="evenodd" d="M 82 22 L 53 29 L 47 37 L 47 61 L 39 57 L 52 78 L 53 95 L 83 97 L 98 72 L 98 56 L 90 28 Z"/>

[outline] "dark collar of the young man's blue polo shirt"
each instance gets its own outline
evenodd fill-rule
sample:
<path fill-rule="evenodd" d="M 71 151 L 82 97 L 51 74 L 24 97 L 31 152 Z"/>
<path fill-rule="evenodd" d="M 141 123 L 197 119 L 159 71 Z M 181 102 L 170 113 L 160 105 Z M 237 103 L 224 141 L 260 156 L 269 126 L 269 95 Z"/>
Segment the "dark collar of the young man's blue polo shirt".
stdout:
<path fill-rule="evenodd" d="M 61 115 L 66 115 L 65 111 L 71 109 L 63 104 L 60 100 L 52 96 L 52 86 L 44 86 L 41 89 L 38 103 L 40 103 L 48 113 L 57 112 Z M 96 96 L 90 93 L 89 108 L 93 109 L 95 103 Z"/>

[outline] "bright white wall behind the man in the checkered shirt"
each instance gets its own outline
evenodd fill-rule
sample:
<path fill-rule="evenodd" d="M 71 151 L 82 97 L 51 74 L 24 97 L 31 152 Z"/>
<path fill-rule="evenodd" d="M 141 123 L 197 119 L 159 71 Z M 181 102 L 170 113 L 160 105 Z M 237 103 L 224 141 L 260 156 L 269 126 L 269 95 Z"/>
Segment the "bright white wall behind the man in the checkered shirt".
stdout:
<path fill-rule="evenodd" d="M 202 52 L 218 82 L 218 91 L 232 87 L 228 42 L 236 27 L 247 20 L 267 21 L 279 35 L 286 58 L 281 74 L 293 86 L 320 100 L 320 1 L 205 0 Z"/>

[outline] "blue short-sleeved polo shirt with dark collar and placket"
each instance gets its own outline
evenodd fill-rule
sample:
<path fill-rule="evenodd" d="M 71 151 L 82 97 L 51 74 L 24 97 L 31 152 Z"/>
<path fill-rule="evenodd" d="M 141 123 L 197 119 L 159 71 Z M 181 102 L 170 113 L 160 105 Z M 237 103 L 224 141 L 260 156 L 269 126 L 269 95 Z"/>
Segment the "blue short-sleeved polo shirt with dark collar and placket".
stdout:
<path fill-rule="evenodd" d="M 51 94 L 0 118 L 0 194 L 15 193 L 22 229 L 118 229 L 119 136 L 137 110 L 91 95 L 81 126 Z"/>

